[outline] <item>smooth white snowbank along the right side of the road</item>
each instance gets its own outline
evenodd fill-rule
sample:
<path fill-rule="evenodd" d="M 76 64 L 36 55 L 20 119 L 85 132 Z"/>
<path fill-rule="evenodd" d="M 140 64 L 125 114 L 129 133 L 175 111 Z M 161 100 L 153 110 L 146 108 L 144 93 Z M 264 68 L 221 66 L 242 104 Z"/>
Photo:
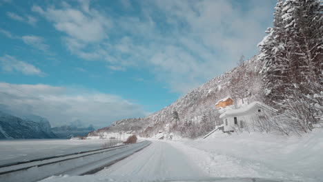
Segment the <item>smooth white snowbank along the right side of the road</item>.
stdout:
<path fill-rule="evenodd" d="M 323 130 L 302 137 L 215 132 L 207 139 L 171 143 L 211 176 L 323 179 Z"/>

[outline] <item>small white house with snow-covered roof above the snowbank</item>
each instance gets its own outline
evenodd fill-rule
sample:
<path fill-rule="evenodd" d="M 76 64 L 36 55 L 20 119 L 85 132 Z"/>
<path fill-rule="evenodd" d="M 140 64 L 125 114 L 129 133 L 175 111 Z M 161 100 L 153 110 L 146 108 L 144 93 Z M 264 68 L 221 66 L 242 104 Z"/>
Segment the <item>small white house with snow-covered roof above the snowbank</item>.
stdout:
<path fill-rule="evenodd" d="M 223 131 L 233 132 L 235 128 L 245 128 L 246 125 L 252 125 L 256 119 L 263 119 L 274 112 L 277 110 L 256 101 L 236 110 L 226 110 L 219 118 L 223 121 Z"/>

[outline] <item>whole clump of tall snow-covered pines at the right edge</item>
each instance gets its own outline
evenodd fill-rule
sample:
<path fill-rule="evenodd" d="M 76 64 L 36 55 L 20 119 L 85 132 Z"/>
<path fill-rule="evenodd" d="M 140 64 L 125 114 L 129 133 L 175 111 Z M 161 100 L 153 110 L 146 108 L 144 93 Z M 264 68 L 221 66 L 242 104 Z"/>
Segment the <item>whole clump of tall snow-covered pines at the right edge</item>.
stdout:
<path fill-rule="evenodd" d="M 321 8 L 318 0 L 277 1 L 273 29 L 259 45 L 265 100 L 302 132 L 311 130 L 322 113 L 322 97 L 314 97 L 323 90 Z"/>

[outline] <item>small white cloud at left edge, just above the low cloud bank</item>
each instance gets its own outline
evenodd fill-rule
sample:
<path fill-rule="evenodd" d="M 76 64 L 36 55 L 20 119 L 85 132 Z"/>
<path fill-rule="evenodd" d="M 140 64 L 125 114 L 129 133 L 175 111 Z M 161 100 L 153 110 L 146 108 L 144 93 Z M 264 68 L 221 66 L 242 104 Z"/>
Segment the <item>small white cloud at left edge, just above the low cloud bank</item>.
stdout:
<path fill-rule="evenodd" d="M 26 75 L 38 76 L 44 75 L 44 73 L 41 72 L 39 68 L 36 68 L 34 65 L 31 65 L 30 63 L 26 63 L 23 61 L 19 61 L 7 54 L 5 54 L 3 57 L 0 57 L 0 63 L 1 70 L 5 72 L 21 72 L 22 74 Z"/>

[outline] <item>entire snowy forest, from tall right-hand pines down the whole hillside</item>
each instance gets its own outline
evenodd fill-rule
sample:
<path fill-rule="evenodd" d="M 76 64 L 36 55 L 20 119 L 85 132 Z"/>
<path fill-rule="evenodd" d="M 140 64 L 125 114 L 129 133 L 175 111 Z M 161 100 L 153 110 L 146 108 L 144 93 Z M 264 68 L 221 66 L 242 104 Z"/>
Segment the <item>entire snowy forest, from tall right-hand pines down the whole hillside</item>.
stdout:
<path fill-rule="evenodd" d="M 124 119 L 90 132 L 133 130 L 151 137 L 169 126 L 188 138 L 222 124 L 215 103 L 230 95 L 237 103 L 261 101 L 277 110 L 256 130 L 302 135 L 323 122 L 323 4 L 319 0 L 278 0 L 273 27 L 258 44 L 260 53 L 215 77 L 145 118 Z M 262 122 L 262 121 L 260 121 Z"/>

